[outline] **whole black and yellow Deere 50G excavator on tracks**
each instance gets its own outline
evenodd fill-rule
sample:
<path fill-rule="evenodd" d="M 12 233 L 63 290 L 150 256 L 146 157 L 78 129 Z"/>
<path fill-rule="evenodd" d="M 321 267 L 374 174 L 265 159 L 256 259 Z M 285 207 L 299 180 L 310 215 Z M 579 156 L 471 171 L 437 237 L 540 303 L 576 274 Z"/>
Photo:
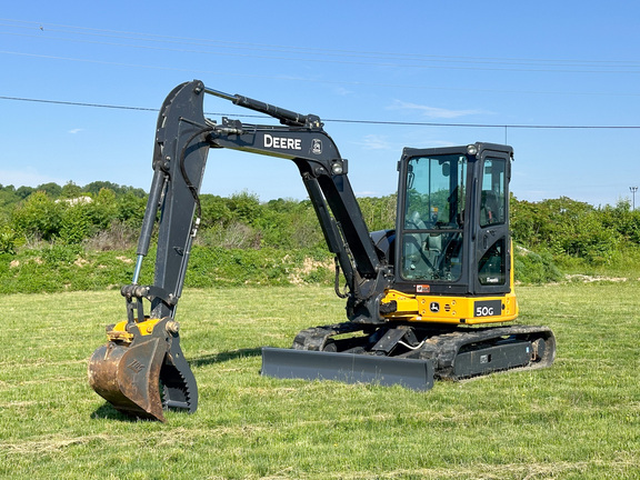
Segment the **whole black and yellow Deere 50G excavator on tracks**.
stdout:
<path fill-rule="evenodd" d="M 203 111 L 206 96 L 279 123 L 211 120 Z M 127 319 L 107 327 L 107 343 L 88 366 L 91 387 L 118 411 L 166 421 L 166 410 L 198 407 L 176 312 L 201 219 L 204 167 L 216 149 L 278 157 L 298 167 L 334 254 L 336 293 L 346 300 L 346 321 L 308 328 L 291 348 L 262 348 L 263 376 L 420 391 L 431 389 L 434 379 L 552 364 L 556 338 L 549 328 L 509 323 L 518 318 L 509 231 L 511 147 L 404 148 L 394 229 L 370 232 L 348 161 L 319 117 L 193 80 L 176 87 L 160 110 L 133 277 L 121 289 Z M 153 283 L 140 284 L 156 230 Z"/>

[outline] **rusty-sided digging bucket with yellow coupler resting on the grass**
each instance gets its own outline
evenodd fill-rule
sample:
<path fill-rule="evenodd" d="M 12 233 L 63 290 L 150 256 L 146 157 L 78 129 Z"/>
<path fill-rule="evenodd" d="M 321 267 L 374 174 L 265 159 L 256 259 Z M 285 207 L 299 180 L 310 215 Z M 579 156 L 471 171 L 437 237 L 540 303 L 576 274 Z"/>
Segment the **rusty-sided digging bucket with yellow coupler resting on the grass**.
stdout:
<path fill-rule="evenodd" d="M 196 411 L 196 380 L 174 324 L 164 319 L 108 328 L 109 341 L 89 361 L 93 390 L 130 417 L 164 421 L 167 408 Z"/>

